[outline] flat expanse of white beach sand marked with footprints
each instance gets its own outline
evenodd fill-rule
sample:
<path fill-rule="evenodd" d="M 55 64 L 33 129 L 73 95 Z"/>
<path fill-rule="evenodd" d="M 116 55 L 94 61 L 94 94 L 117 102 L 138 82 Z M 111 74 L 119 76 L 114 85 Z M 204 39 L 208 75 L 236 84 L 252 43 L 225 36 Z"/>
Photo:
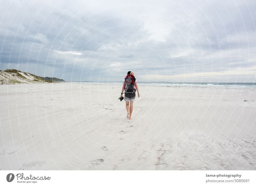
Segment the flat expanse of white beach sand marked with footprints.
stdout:
<path fill-rule="evenodd" d="M 138 85 L 0 85 L 1 170 L 256 170 L 256 89 Z"/>

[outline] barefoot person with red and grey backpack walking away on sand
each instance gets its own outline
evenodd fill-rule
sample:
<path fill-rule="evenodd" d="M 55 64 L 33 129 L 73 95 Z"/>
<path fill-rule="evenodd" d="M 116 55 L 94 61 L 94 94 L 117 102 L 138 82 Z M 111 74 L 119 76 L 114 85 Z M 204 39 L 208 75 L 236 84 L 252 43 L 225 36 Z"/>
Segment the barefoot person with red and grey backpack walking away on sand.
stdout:
<path fill-rule="evenodd" d="M 134 86 L 136 89 L 134 88 Z M 132 87 L 133 91 L 130 92 L 128 90 L 129 89 L 128 87 Z M 122 92 L 121 92 L 121 97 L 123 97 L 123 94 L 124 94 L 125 107 L 127 111 L 126 117 L 129 118 L 129 120 L 132 119 L 133 101 L 135 100 L 136 90 L 138 92 L 138 97 L 140 97 L 137 80 L 134 77 L 134 73 L 129 71 L 127 73 L 127 76 L 123 80 L 123 86 L 122 86 Z M 129 105 L 129 102 L 130 102 L 130 105 Z"/>

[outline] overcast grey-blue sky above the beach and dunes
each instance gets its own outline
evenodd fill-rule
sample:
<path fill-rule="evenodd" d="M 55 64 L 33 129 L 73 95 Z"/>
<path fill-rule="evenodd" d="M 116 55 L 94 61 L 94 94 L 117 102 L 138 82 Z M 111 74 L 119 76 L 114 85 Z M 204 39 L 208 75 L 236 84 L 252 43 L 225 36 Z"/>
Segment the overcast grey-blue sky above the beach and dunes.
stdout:
<path fill-rule="evenodd" d="M 255 82 L 252 1 L 2 1 L 0 69 L 68 81 Z"/>

